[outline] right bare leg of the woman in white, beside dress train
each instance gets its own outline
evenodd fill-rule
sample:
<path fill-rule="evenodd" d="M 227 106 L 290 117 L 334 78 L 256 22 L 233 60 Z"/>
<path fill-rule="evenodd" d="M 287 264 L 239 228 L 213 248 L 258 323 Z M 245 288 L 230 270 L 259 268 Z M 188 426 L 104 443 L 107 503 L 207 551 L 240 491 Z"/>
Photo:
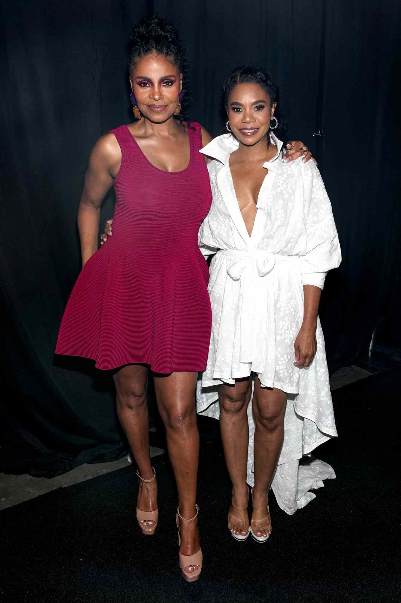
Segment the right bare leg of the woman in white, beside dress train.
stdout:
<path fill-rule="evenodd" d="M 252 405 L 255 418 L 255 486 L 250 523 L 256 536 L 266 537 L 272 531 L 270 514 L 267 513 L 267 494 L 284 441 L 287 394 L 276 388 L 261 387 L 260 380 L 255 377 Z"/>

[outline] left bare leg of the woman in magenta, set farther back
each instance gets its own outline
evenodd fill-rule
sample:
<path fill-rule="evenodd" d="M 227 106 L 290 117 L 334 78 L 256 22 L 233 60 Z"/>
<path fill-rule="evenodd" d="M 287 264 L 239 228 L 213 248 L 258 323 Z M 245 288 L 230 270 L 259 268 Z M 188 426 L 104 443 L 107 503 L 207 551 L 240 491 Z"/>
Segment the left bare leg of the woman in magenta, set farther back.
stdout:
<path fill-rule="evenodd" d="M 146 402 L 148 368 L 141 364 L 128 364 L 114 373 L 117 391 L 117 414 L 120 419 L 129 446 L 143 479 L 151 479 L 154 472 L 149 450 L 149 418 Z M 139 481 L 138 509 L 155 511 L 157 509 L 157 482 L 150 484 Z M 153 525 L 154 522 L 148 522 Z"/>

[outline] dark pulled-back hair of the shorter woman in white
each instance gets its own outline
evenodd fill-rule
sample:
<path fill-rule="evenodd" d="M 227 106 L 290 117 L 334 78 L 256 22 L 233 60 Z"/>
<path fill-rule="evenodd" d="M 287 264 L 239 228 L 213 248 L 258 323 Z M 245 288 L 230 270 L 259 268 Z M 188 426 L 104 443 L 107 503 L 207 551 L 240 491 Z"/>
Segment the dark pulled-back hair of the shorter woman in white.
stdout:
<path fill-rule="evenodd" d="M 238 84 L 258 84 L 258 86 L 266 90 L 272 103 L 278 103 L 279 101 L 278 86 L 269 72 L 263 67 L 256 65 L 243 65 L 235 68 L 223 84 L 223 104 L 226 110 L 228 109 L 228 97 Z M 269 133 L 273 131 L 278 139 L 285 143 L 288 140 L 288 124 L 277 108 L 275 110 L 275 118 L 278 121 L 278 127 L 275 130 L 270 130 L 269 128 Z M 283 151 L 284 147 L 285 145 L 283 145 Z"/>

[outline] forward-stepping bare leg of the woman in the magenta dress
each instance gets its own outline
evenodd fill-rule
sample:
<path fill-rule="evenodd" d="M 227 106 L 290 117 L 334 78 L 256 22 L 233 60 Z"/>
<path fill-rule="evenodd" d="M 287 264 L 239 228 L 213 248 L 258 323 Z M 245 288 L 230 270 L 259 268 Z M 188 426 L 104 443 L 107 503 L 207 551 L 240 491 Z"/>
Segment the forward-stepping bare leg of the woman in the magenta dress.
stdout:
<path fill-rule="evenodd" d="M 195 406 L 196 379 L 197 373 L 154 375 L 157 404 L 166 427 L 167 449 L 177 484 L 179 513 L 184 519 L 191 519 L 196 515 L 199 460 L 199 432 Z M 193 555 L 201 548 L 197 521 L 187 523 L 179 520 L 179 522 L 181 529 L 179 552 L 181 555 Z"/>

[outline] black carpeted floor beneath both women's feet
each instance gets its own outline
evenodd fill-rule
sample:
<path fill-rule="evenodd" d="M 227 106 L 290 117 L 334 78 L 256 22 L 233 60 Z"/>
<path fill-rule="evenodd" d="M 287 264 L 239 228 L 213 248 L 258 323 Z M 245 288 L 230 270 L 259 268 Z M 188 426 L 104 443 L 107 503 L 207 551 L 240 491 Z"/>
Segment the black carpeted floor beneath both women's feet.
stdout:
<path fill-rule="evenodd" d="M 334 392 L 340 438 L 317 456 L 334 466 L 307 507 L 288 516 L 274 498 L 264 545 L 226 529 L 229 482 L 222 452 L 204 444 L 198 502 L 204 569 L 178 573 L 176 494 L 166 457 L 158 472 L 160 525 L 135 523 L 134 469 L 60 488 L 1 514 L 4 602 L 399 601 L 399 369 Z"/>

